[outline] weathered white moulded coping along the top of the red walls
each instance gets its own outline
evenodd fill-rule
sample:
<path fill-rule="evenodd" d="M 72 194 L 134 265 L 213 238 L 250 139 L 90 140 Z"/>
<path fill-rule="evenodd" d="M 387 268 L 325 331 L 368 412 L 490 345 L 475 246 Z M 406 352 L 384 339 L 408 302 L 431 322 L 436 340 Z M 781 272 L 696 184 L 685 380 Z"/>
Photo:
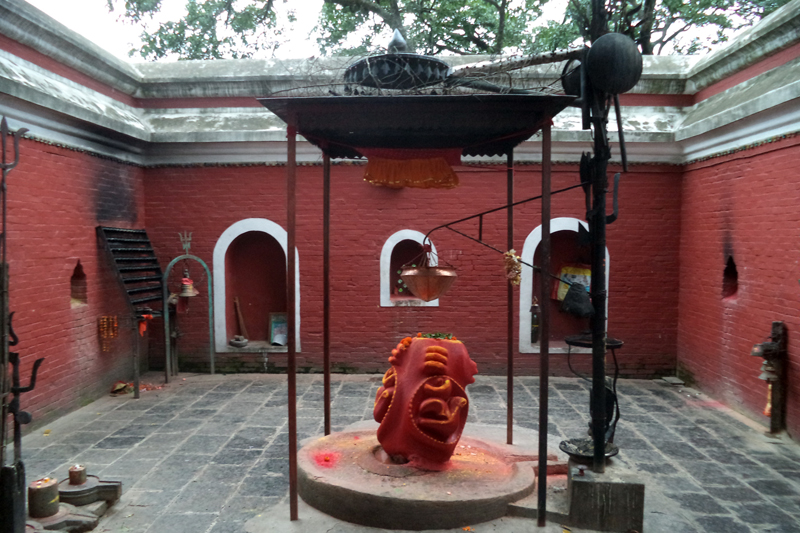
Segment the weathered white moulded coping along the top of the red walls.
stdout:
<path fill-rule="evenodd" d="M 743 42 L 731 43 L 710 56 L 645 57 L 643 78 L 632 92 L 694 94 L 725 72 L 763 59 L 772 50 L 770 46 L 779 49 L 800 42 L 798 24 L 800 0 L 793 0 L 748 30 Z M 285 144 L 285 124 L 255 102 L 248 106 L 248 102 L 220 101 L 215 105 L 207 101 L 203 104 L 209 107 L 176 107 L 170 106 L 169 100 L 264 96 L 310 81 L 341 79 L 342 69 L 352 61 L 336 57 L 133 65 L 110 56 L 21 0 L 0 0 L 0 31 L 139 98 L 132 104 L 121 102 L 0 50 L 0 114 L 9 117 L 12 128 L 24 125 L 42 140 L 143 165 L 285 160 L 280 148 Z M 726 58 L 733 67 L 727 66 Z M 446 59 L 464 64 L 487 56 Z M 560 68 L 548 65 L 525 69 L 516 76 L 542 83 L 554 81 L 558 73 Z M 796 118 L 800 112 L 795 111 L 800 100 L 799 77 L 800 60 L 792 60 L 692 106 L 628 106 L 624 126 L 629 157 L 638 162 L 682 164 L 714 150 L 736 149 L 745 141 L 791 133 L 798 129 L 797 121 L 787 122 L 787 117 Z M 150 107 L 148 98 L 165 101 Z M 739 128 L 748 133 L 737 134 L 736 124 L 748 124 Z M 616 130 L 612 117 L 612 141 Z M 558 161 L 577 160 L 581 148 L 590 144 L 576 110 L 565 110 L 556 117 L 553 141 Z M 537 160 L 537 146 L 523 143 L 518 159 Z M 301 160 L 319 159 L 313 147 L 301 152 L 305 158 Z"/>

